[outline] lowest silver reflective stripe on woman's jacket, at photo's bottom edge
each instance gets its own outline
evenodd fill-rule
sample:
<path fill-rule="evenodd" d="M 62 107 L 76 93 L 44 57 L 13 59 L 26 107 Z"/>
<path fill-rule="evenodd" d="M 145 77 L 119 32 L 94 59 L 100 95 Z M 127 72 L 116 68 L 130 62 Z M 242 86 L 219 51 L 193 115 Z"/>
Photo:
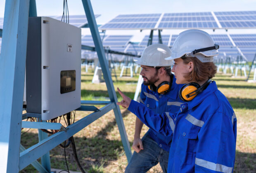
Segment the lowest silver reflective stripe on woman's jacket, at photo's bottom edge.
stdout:
<path fill-rule="evenodd" d="M 197 164 L 198 166 L 207 168 L 207 169 L 211 169 L 213 171 L 219 171 L 222 173 L 232 173 L 233 168 L 232 167 L 228 167 L 225 165 L 221 165 L 221 164 L 215 164 L 211 161 L 206 161 L 203 159 L 198 159 L 196 158 L 195 164 Z"/>

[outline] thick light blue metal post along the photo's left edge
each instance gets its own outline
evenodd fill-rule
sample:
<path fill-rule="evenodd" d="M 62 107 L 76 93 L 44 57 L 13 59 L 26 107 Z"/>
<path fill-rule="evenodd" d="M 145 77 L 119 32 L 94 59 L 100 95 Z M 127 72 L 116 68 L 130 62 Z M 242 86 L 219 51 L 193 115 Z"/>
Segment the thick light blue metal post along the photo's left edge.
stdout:
<path fill-rule="evenodd" d="M 6 0 L 0 56 L 0 172 L 19 172 L 29 0 Z"/>

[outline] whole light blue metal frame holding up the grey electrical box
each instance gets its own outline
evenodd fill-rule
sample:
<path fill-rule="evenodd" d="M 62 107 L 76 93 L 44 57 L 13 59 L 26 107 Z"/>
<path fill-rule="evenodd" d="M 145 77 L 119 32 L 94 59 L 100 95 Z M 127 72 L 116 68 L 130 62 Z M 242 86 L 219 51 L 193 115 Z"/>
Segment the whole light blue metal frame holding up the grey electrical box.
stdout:
<path fill-rule="evenodd" d="M 81 101 L 81 104 L 105 105 L 99 111 L 93 106 L 82 105 L 78 110 L 97 111 L 80 119 L 79 121 L 66 127 L 64 131 L 59 131 L 52 136 L 42 131 L 38 131 L 39 143 L 28 149 L 20 147 L 21 124 L 23 106 L 24 77 L 26 64 L 26 44 L 28 33 L 28 16 L 36 16 L 35 0 L 6 0 L 5 18 L 2 37 L 2 51 L 0 57 L 0 172 L 18 172 L 29 164 L 32 164 L 38 171 L 50 172 L 49 151 L 70 138 L 78 131 L 82 130 L 110 110 L 114 110 L 116 122 L 119 127 L 121 139 L 128 161 L 131 158 L 131 150 L 128 142 L 126 130 L 123 124 L 121 111 L 116 104 L 117 97 L 114 85 L 109 72 L 104 49 L 97 29 L 95 16 L 92 11 L 90 0 L 82 0 L 88 24 L 95 43 L 104 79 L 107 84 L 110 102 L 106 101 Z M 33 123 L 33 122 L 32 122 Z M 31 122 L 24 122 L 23 126 L 35 127 Z M 59 124 L 49 125 L 46 122 L 39 122 L 40 128 L 59 128 Z M 45 126 L 46 125 L 46 126 Z M 39 127 L 38 127 L 39 128 Z M 19 150 L 21 152 L 19 153 Z M 35 160 L 42 157 L 42 165 Z"/>

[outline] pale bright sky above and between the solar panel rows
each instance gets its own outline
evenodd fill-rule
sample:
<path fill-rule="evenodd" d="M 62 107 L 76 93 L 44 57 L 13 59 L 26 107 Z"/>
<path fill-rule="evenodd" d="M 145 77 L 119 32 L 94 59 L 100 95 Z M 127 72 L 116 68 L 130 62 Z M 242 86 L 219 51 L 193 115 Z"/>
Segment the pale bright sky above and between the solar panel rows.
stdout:
<path fill-rule="evenodd" d="M 220 12 L 220 11 L 250 11 L 256 10 L 256 0 L 91 0 L 94 14 L 101 14 L 96 19 L 97 24 L 104 24 L 119 14 L 150 14 L 177 12 Z M 0 17 L 4 16 L 5 0 L 0 0 Z M 38 16 L 59 16 L 63 13 L 63 0 L 36 0 Z M 68 0 L 69 15 L 84 15 L 81 0 Z M 163 30 L 162 34 L 178 34 L 182 30 Z M 212 30 L 205 30 L 213 33 Z M 229 30 L 229 33 L 256 33 L 256 29 Z M 82 34 L 90 33 L 83 29 Z M 138 39 L 149 35 L 149 30 L 112 30 L 106 34 L 133 34 Z M 225 33 L 225 30 L 215 30 L 214 33 Z"/>

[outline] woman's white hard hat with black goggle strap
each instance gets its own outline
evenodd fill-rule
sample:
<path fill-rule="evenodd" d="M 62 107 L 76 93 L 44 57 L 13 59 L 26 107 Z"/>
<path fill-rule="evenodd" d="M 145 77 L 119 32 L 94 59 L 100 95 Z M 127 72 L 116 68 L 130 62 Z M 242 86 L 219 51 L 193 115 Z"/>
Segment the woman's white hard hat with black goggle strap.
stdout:
<path fill-rule="evenodd" d="M 203 63 L 212 62 L 213 56 L 218 55 L 218 48 L 208 33 L 198 29 L 185 30 L 174 41 L 172 54 L 166 60 L 184 56 L 197 57 Z"/>

